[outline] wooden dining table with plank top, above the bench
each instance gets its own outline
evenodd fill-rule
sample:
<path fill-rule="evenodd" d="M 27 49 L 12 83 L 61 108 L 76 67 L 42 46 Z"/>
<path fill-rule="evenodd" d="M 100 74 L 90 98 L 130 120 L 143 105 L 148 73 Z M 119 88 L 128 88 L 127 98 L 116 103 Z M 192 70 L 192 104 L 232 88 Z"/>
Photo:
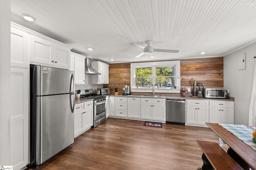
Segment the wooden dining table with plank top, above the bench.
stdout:
<path fill-rule="evenodd" d="M 228 154 L 245 170 L 256 170 L 256 150 L 218 123 L 206 123 L 229 146 Z"/>

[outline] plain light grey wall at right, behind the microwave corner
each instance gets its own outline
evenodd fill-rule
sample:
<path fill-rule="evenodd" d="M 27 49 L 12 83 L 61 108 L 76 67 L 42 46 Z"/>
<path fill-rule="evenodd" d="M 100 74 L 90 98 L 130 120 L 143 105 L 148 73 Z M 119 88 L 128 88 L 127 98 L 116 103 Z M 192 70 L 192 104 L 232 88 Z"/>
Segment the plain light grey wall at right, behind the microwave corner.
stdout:
<path fill-rule="evenodd" d="M 246 53 L 246 69 L 238 70 L 238 56 Z M 256 59 L 256 43 L 224 56 L 224 89 L 235 98 L 235 124 L 248 125 Z"/>

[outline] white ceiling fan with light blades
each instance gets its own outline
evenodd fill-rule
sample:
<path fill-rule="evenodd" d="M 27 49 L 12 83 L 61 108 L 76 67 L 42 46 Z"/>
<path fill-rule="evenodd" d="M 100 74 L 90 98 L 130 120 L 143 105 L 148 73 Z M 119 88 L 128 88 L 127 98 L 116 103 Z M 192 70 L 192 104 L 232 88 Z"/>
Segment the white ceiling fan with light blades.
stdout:
<path fill-rule="evenodd" d="M 140 53 L 135 58 L 138 58 L 138 57 L 140 57 L 144 54 L 152 54 L 153 52 L 164 52 L 164 53 L 178 53 L 179 52 L 179 50 L 154 49 L 152 47 L 152 43 L 153 43 L 153 41 L 151 41 L 151 40 L 145 41 L 145 44 L 147 45 L 146 47 L 143 47 L 143 46 L 138 45 L 136 43 L 130 43 L 130 44 L 136 45 L 137 47 L 140 47 L 140 48 L 144 49 L 143 53 Z"/>

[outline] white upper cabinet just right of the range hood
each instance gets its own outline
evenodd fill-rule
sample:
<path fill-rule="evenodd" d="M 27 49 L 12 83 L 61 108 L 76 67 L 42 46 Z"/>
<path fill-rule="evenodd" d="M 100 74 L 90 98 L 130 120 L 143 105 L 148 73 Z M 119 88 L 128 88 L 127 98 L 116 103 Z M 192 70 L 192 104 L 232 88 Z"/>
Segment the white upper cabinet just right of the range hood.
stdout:
<path fill-rule="evenodd" d="M 101 73 L 100 75 L 92 75 L 92 84 L 108 84 L 108 67 L 106 63 L 100 61 L 92 61 L 92 68 Z"/>

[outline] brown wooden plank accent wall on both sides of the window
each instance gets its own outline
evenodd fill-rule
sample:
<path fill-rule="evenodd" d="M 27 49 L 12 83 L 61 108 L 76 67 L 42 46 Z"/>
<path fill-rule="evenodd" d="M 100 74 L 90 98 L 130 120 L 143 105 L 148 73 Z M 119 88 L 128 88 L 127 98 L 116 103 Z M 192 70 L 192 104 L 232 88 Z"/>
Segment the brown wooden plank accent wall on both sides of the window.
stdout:
<path fill-rule="evenodd" d="M 110 92 L 119 92 L 122 88 L 130 86 L 130 63 L 109 64 L 109 84 L 104 84 L 104 88 L 110 88 Z M 223 57 L 181 59 L 180 60 L 180 85 L 191 88 L 194 80 L 202 83 L 204 88 L 223 88 Z M 186 92 L 187 94 L 191 94 Z"/>

